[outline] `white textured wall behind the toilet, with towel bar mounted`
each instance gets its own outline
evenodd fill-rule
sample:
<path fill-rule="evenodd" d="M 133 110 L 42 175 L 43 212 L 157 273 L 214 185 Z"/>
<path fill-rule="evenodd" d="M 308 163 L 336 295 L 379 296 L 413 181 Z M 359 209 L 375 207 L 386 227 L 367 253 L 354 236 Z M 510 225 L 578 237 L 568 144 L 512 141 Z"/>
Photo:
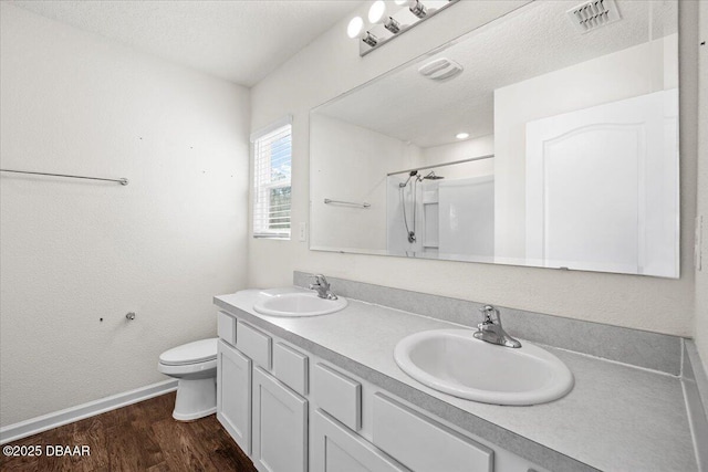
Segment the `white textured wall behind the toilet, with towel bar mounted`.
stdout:
<path fill-rule="evenodd" d="M 165 380 L 246 285 L 249 92 L 2 2 L 2 426 Z M 125 319 L 127 312 L 137 316 Z M 100 318 L 103 317 L 103 322 Z"/>

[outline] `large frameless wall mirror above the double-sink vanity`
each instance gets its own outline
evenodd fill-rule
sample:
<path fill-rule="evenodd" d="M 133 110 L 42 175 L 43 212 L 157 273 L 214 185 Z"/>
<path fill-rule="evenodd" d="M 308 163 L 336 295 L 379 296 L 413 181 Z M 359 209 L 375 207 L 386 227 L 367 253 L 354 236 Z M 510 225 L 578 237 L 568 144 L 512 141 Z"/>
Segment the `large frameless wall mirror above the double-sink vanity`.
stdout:
<path fill-rule="evenodd" d="M 311 249 L 678 277 L 678 1 L 579 3 L 312 109 Z"/>

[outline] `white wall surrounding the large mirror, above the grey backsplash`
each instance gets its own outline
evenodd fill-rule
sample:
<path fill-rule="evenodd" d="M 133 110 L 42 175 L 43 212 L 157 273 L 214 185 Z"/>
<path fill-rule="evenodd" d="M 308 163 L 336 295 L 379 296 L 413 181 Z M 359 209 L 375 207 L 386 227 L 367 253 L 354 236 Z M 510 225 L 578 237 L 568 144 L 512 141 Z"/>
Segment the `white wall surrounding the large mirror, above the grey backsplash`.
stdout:
<path fill-rule="evenodd" d="M 346 19 L 293 56 L 251 91 L 253 129 L 294 115 L 293 213 L 308 221 L 308 113 L 336 95 L 494 18 L 512 3 L 459 2 L 365 57 L 346 38 Z M 309 251 L 292 241 L 251 241 L 249 283 L 289 285 L 292 271 L 327 275 L 465 300 L 558 314 L 676 335 L 691 335 L 690 265 L 696 201 L 697 3 L 681 2 L 681 268 L 680 280 L 549 269 Z M 364 13 L 364 11 L 362 11 Z M 449 13 L 449 14 L 448 14 Z M 470 314 L 470 322 L 476 314 Z"/>

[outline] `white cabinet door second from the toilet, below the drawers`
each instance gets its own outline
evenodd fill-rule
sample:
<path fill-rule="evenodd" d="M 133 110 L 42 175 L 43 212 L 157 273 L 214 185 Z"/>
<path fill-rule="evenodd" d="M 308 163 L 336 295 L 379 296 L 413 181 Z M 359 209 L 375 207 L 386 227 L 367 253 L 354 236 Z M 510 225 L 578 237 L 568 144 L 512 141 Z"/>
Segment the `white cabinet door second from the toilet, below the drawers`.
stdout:
<path fill-rule="evenodd" d="M 308 400 L 253 368 L 253 454 L 261 472 L 308 470 Z"/>

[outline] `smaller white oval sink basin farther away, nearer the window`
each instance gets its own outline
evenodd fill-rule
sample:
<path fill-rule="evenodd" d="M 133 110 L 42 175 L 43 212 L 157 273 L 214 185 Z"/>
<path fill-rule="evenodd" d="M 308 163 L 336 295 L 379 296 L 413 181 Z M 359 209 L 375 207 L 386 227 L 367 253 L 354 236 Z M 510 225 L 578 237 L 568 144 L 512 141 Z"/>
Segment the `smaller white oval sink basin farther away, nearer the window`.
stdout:
<path fill-rule="evenodd" d="M 320 298 L 316 293 L 283 293 L 263 295 L 253 310 L 270 316 L 317 316 L 329 315 L 346 307 L 346 298 Z"/>

